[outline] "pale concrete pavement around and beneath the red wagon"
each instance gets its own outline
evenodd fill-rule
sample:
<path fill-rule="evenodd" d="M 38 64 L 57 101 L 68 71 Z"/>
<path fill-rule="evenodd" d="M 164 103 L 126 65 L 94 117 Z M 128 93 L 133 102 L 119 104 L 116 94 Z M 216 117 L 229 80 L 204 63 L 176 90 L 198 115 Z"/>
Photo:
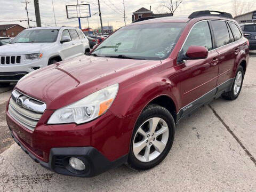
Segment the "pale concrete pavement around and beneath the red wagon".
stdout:
<path fill-rule="evenodd" d="M 183 119 L 169 155 L 143 172 L 123 165 L 76 178 L 45 170 L 11 145 L 4 109 L 12 87 L 0 89 L 1 150 L 11 145 L 0 154 L 0 191 L 256 191 L 256 52 L 250 54 L 238 99 L 219 98 Z"/>

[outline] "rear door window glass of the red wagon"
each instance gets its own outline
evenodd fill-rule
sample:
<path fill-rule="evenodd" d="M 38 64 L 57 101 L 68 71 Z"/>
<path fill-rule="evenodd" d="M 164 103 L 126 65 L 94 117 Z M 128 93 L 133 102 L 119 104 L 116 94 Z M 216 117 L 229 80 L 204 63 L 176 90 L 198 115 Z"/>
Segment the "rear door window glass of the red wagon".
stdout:
<path fill-rule="evenodd" d="M 230 38 L 228 34 L 228 27 L 225 21 L 211 21 L 214 35 L 216 38 L 217 47 L 229 43 Z"/>

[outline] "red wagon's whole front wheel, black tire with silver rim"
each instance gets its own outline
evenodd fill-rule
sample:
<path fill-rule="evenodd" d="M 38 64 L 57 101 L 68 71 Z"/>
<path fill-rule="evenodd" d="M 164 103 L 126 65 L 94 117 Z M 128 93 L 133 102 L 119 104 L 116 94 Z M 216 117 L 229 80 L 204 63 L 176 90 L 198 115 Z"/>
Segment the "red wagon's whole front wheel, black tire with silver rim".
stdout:
<path fill-rule="evenodd" d="M 157 125 L 155 131 L 150 131 L 150 124 Z M 171 113 L 158 105 L 147 106 L 134 127 L 127 166 L 133 170 L 142 171 L 161 163 L 172 147 L 174 134 L 175 123 Z M 142 144 L 140 145 L 140 143 Z M 160 143 L 161 145 L 159 145 Z M 145 147 L 142 148 L 141 146 L 144 145 Z M 138 151 L 140 152 L 138 153 Z M 148 151 L 147 154 L 146 151 Z"/>

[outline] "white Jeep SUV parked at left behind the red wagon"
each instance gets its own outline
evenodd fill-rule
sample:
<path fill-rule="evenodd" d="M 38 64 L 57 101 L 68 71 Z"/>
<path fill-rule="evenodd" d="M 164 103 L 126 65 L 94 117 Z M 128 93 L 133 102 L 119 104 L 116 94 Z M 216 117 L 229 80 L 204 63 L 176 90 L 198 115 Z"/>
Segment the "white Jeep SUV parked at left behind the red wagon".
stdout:
<path fill-rule="evenodd" d="M 36 27 L 23 30 L 11 44 L 0 46 L 0 86 L 52 63 L 90 52 L 89 41 L 78 28 Z"/>

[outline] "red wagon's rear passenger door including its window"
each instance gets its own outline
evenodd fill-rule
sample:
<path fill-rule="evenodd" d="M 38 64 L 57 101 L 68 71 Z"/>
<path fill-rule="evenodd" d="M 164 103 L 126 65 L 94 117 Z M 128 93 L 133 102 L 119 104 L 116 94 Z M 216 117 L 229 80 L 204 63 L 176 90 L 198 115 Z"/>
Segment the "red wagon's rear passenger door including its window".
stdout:
<path fill-rule="evenodd" d="M 217 86 L 226 89 L 233 83 L 233 69 L 239 53 L 239 44 L 234 42 L 233 34 L 228 23 L 221 20 L 211 20 L 211 26 L 216 42 L 216 51 L 219 53 L 219 72 Z M 222 91 L 219 89 L 219 91 Z"/>

